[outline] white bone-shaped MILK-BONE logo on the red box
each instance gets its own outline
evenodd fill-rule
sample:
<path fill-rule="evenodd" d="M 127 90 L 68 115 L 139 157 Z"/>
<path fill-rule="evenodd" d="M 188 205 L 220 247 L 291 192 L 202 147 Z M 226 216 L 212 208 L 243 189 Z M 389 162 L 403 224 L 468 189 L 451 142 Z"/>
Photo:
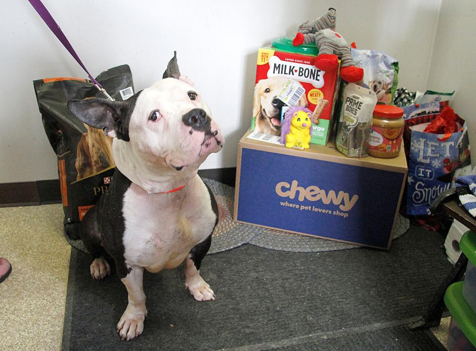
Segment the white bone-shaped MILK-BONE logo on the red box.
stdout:
<path fill-rule="evenodd" d="M 324 71 L 311 64 L 282 61 L 273 56 L 269 59 L 268 78 L 286 77 L 300 82 L 309 82 L 315 88 L 324 86 Z"/>

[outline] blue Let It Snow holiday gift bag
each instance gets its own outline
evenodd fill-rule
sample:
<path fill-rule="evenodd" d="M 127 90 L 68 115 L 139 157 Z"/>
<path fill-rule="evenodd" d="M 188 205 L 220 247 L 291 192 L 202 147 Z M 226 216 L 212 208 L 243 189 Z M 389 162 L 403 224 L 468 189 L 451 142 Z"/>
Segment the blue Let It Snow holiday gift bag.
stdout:
<path fill-rule="evenodd" d="M 458 128 L 451 133 L 425 132 L 429 121 L 409 127 L 408 215 L 429 215 L 429 205 L 441 192 L 454 186 L 453 179 L 471 172 L 466 122 L 456 117 Z"/>

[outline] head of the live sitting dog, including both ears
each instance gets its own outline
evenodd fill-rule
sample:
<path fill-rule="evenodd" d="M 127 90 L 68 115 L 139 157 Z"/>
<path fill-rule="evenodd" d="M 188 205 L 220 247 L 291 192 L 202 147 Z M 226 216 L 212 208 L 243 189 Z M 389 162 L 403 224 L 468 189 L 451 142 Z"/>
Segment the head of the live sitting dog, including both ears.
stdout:
<path fill-rule="evenodd" d="M 180 75 L 176 56 L 163 78 L 124 102 L 100 98 L 68 102 L 79 119 L 115 138 L 119 170 L 142 183 L 159 181 L 164 175 L 196 173 L 206 157 L 224 144 L 209 107 Z"/>

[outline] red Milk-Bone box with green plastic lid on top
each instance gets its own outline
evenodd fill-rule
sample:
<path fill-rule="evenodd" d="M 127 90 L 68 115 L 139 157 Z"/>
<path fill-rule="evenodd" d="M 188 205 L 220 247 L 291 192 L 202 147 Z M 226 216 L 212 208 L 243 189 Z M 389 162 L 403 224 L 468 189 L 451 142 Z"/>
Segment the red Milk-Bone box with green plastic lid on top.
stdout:
<path fill-rule="evenodd" d="M 314 61 L 314 44 L 293 47 L 281 38 L 258 51 L 251 129 L 280 135 L 282 108 L 307 107 L 314 112 L 311 143 L 325 145 L 331 134 L 331 116 L 338 88 L 339 63 L 327 71 Z"/>

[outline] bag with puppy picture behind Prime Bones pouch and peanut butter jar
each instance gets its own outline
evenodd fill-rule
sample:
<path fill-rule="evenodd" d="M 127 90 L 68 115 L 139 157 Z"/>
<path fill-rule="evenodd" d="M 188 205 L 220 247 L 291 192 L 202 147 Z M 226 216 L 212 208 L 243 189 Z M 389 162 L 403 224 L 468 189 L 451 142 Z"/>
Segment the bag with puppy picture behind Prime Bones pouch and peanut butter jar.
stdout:
<path fill-rule="evenodd" d="M 363 86 L 377 95 L 377 101 L 393 105 L 398 85 L 398 61 L 373 50 L 351 49 L 356 66 L 363 68 Z"/>

